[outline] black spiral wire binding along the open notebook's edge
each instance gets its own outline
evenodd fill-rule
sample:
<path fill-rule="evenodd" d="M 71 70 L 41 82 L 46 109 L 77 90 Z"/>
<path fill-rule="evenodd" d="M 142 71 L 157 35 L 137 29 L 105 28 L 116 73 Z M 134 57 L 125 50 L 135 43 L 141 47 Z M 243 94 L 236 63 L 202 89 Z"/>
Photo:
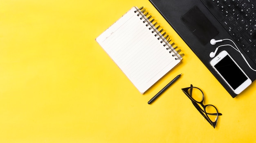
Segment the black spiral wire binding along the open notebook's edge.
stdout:
<path fill-rule="evenodd" d="M 176 50 L 176 49 L 178 48 L 178 46 L 175 46 L 175 47 L 173 48 L 173 46 L 175 45 L 175 43 L 174 43 L 174 42 L 173 42 L 173 43 L 170 43 L 170 42 L 171 42 L 171 39 L 170 39 L 169 35 L 166 35 L 166 32 L 164 32 L 163 34 L 161 33 L 161 32 L 164 31 L 164 29 L 158 30 L 161 26 L 158 25 L 158 26 L 156 27 L 157 22 L 155 22 L 155 23 L 153 24 L 153 22 L 155 21 L 155 19 L 150 20 L 150 18 L 152 18 L 151 15 L 147 17 L 148 12 L 146 12 L 146 9 L 143 9 L 143 6 L 141 6 L 141 8 L 137 9 L 136 11 L 134 11 L 134 13 L 137 13 L 137 12 L 139 12 L 139 13 L 137 14 L 137 16 L 141 16 L 141 17 L 140 17 L 140 20 L 143 20 L 143 19 L 144 19 L 143 23 L 147 22 L 146 26 L 147 26 L 147 27 L 150 26 L 148 29 L 151 30 L 151 29 L 153 28 L 153 31 L 151 31 L 151 32 L 152 32 L 152 33 L 156 32 L 155 37 L 159 36 L 157 39 L 158 39 L 158 40 L 162 39 L 162 40 L 160 41 L 160 43 L 163 43 L 163 42 L 164 42 L 164 47 L 169 44 L 168 48 L 166 48 L 166 50 L 170 50 L 169 53 L 174 52 L 174 50 Z M 146 12 L 146 13 L 145 13 L 145 12 Z M 145 14 L 144 14 L 144 13 L 145 13 Z M 165 36 L 165 35 L 166 35 L 166 36 Z M 164 36 L 165 36 L 165 37 L 164 37 Z M 168 39 L 167 39 L 167 38 L 168 38 Z M 181 52 L 180 49 L 179 49 L 179 50 L 176 50 L 176 52 L 174 52 L 174 54 L 172 55 L 172 56 L 177 56 L 177 58 L 175 58 L 175 60 L 181 59 L 181 58 L 185 55 L 185 54 L 183 54 L 183 53 L 180 54 L 180 52 Z"/>

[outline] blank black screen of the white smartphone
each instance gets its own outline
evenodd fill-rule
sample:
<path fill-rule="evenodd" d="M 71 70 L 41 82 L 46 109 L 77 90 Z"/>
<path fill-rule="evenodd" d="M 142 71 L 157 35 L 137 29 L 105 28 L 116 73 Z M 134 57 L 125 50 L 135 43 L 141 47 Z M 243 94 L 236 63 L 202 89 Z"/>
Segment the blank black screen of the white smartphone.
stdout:
<path fill-rule="evenodd" d="M 233 89 L 238 88 L 248 79 L 229 56 L 225 56 L 214 67 Z"/>

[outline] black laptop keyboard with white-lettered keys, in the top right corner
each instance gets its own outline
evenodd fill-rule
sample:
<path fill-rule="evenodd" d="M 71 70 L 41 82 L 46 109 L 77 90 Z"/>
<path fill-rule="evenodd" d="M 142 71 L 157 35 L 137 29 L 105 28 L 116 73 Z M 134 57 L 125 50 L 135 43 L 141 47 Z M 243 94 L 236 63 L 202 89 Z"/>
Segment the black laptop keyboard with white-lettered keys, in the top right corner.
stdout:
<path fill-rule="evenodd" d="M 202 0 L 256 64 L 256 4 L 252 0 Z"/>

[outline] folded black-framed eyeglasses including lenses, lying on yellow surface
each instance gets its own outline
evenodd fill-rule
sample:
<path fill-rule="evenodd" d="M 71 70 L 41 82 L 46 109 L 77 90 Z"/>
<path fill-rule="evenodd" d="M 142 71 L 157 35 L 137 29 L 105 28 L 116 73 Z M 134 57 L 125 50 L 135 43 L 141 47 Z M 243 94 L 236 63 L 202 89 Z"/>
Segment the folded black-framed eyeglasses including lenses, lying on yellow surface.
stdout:
<path fill-rule="evenodd" d="M 216 127 L 218 117 L 219 115 L 222 115 L 221 113 L 218 113 L 218 110 L 215 106 L 208 104 L 204 105 L 204 93 L 201 89 L 198 87 L 186 87 L 183 88 L 182 91 L 187 95 L 187 97 L 192 101 L 193 105 L 196 109 L 202 114 L 202 116 L 213 126 L 213 128 Z M 192 96 L 193 91 L 193 96 Z M 200 104 L 202 108 L 198 105 Z"/>

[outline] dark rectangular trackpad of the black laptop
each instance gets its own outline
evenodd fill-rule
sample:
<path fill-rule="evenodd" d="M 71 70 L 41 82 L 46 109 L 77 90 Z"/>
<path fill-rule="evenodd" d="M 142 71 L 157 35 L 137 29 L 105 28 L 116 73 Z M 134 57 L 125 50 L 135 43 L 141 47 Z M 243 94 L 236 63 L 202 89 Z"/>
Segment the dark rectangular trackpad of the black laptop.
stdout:
<path fill-rule="evenodd" d="M 219 34 L 217 28 L 211 24 L 197 6 L 190 9 L 181 19 L 203 45 L 209 43 L 213 37 Z"/>

